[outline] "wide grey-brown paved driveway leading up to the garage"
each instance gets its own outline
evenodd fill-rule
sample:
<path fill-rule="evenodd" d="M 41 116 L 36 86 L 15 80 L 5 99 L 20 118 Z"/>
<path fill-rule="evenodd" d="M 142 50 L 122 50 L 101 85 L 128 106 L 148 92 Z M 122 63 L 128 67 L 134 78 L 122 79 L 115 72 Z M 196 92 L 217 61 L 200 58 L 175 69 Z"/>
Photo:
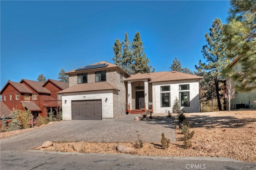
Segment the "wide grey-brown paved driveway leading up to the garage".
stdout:
<path fill-rule="evenodd" d="M 172 120 L 134 121 L 138 115 L 102 121 L 60 121 L 7 138 L 1 138 L 1 150 L 30 150 L 50 141 L 134 142 L 137 134 L 147 142 L 160 142 L 164 132 L 175 142 Z"/>

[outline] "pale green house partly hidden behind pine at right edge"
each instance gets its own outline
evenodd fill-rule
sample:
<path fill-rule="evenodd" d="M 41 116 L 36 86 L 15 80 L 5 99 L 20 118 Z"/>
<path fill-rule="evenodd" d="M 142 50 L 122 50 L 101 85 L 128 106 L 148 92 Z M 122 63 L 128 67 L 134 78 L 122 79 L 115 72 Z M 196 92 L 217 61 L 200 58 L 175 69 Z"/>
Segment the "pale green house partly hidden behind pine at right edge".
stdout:
<path fill-rule="evenodd" d="M 228 68 L 234 70 L 235 73 L 241 73 L 242 65 L 240 64 L 241 56 L 236 57 Z M 236 91 L 236 97 L 231 99 L 230 101 L 230 110 L 240 109 L 240 108 L 248 108 L 248 109 L 256 109 L 256 103 L 253 101 L 256 100 L 256 90 L 251 91 L 249 93 L 244 93 L 240 91 Z M 229 105 L 227 105 L 227 110 Z"/>

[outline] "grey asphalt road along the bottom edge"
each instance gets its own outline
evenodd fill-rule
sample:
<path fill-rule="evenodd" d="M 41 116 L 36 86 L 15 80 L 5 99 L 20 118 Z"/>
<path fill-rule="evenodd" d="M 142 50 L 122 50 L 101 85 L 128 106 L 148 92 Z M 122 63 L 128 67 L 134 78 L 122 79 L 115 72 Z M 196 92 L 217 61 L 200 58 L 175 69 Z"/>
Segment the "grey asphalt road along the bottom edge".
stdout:
<path fill-rule="evenodd" d="M 255 167 L 256 164 L 229 158 L 1 151 L 1 170 L 255 170 Z"/>

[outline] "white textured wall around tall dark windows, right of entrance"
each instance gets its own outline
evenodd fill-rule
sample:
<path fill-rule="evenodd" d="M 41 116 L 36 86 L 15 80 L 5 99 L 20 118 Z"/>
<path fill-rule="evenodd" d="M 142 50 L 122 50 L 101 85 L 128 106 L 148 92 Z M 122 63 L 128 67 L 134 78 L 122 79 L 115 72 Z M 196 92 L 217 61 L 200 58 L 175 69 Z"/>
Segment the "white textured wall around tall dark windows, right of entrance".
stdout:
<path fill-rule="evenodd" d="M 174 100 L 177 97 L 179 99 L 179 85 L 189 84 L 189 107 L 180 107 L 183 111 L 187 113 L 199 112 L 199 81 L 198 80 L 184 80 L 184 81 L 168 81 L 168 82 L 158 82 L 152 83 L 152 97 L 154 102 L 154 113 L 168 113 L 168 110 L 172 112 L 172 107 Z M 170 107 L 161 107 L 161 92 L 160 86 L 170 85 Z M 166 91 L 167 92 L 167 91 Z"/>

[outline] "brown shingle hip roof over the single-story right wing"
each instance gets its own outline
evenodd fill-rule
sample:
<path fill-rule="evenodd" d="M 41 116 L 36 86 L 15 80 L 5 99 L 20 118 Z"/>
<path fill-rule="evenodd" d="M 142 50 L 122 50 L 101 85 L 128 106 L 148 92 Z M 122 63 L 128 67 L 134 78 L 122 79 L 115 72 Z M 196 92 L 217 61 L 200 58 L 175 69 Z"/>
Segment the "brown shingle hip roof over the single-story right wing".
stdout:
<path fill-rule="evenodd" d="M 203 77 L 187 74 L 187 73 L 181 73 L 178 71 L 171 71 L 168 72 L 156 79 L 153 79 L 149 81 L 149 83 L 153 82 L 162 82 L 162 81 L 176 81 L 176 80 L 191 80 L 191 79 L 202 79 Z"/>

